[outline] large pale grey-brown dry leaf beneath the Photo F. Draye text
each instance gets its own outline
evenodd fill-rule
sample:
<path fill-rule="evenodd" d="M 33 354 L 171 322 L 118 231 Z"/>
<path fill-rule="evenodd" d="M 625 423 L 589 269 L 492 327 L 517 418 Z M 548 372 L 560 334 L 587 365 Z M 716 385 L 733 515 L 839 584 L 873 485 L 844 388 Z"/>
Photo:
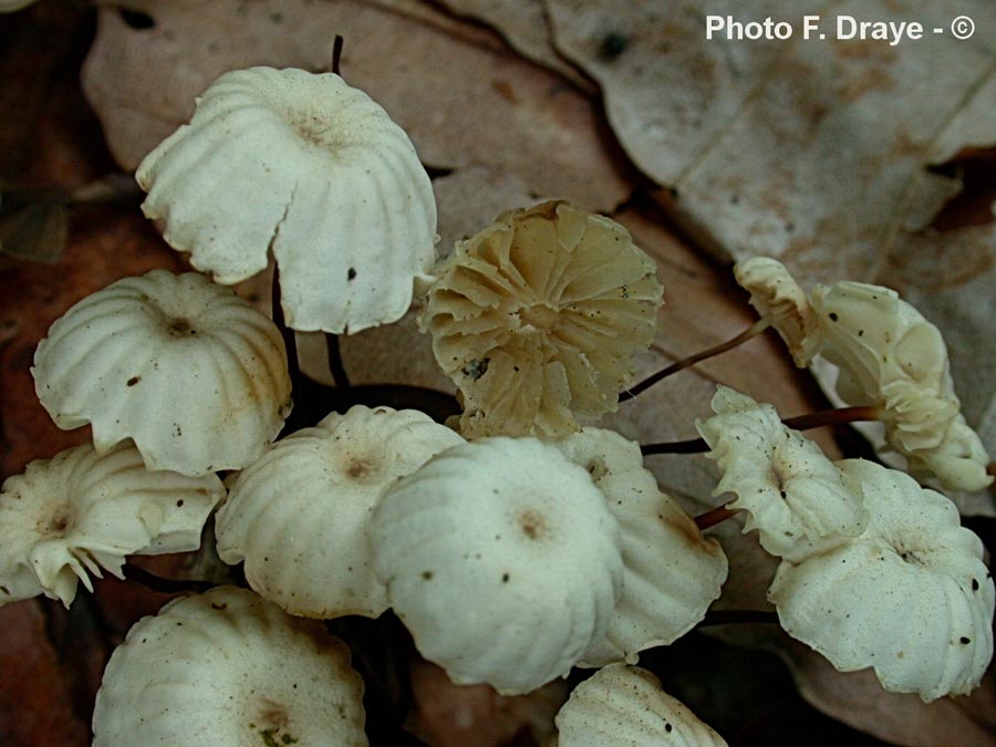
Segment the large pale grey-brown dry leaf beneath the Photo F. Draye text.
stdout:
<path fill-rule="evenodd" d="M 958 189 L 927 167 L 996 141 L 992 33 L 894 46 L 801 32 L 706 40 L 705 14 L 723 11 L 713 0 L 547 4 L 558 48 L 602 84 L 627 153 L 727 255 L 785 258 L 813 280 L 871 281 Z M 996 7 L 982 0 L 720 4 L 793 21 L 822 10 L 828 27 L 842 14 L 945 27 L 964 12 L 996 28 Z M 624 43 L 608 59 L 610 32 Z M 952 280 L 937 269 L 930 262 L 934 283 Z"/>

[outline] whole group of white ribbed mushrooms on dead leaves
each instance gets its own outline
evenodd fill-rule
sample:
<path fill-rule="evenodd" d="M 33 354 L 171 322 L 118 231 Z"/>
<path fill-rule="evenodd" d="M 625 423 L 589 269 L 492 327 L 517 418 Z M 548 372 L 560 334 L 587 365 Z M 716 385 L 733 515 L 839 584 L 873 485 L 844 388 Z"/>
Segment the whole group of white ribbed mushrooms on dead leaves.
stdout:
<path fill-rule="evenodd" d="M 778 560 L 781 626 L 834 667 L 924 701 L 981 683 L 996 588 L 944 496 L 833 461 L 772 405 L 719 386 L 695 425 L 722 473 L 713 495 L 734 497 L 693 518 L 644 467 L 649 449 L 591 424 L 633 384 L 663 295 L 655 261 L 613 220 L 563 200 L 508 210 L 434 266 L 432 184 L 407 135 L 339 75 L 301 70 L 219 77 L 137 180 L 146 216 L 214 281 L 125 278 L 38 345 L 41 404 L 93 439 L 3 483 L 0 604 L 69 606 L 80 582 L 123 578 L 127 556 L 198 549 L 249 589 L 174 600 L 132 627 L 96 698 L 97 747 L 363 747 L 351 646 L 384 689 L 369 702 L 393 707 L 396 672 L 384 685 L 364 650 L 385 630 L 407 649 L 384 660 L 413 658 L 414 642 L 447 685 L 495 698 L 596 670 L 556 716 L 560 747 L 722 747 L 633 665 L 713 622 L 729 563 L 704 528 L 738 511 Z M 276 321 L 219 284 L 271 253 Z M 840 396 L 882 414 L 914 471 L 992 483 L 940 332 L 895 292 L 841 281 L 807 294 L 770 259 L 735 273 L 762 317 L 748 332 L 770 324 L 799 366 L 838 366 Z M 386 324 L 418 294 L 458 388 L 453 427 L 371 403 L 424 390 L 342 376 L 315 394 L 291 330 Z M 558 704 L 567 687 L 552 685 Z"/>

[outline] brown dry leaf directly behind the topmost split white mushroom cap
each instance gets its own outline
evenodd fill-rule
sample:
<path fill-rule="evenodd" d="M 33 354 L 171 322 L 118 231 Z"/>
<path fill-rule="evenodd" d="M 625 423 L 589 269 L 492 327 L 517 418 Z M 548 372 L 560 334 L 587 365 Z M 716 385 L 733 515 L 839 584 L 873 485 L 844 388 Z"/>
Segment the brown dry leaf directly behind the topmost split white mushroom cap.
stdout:
<path fill-rule="evenodd" d="M 338 33 L 345 79 L 387 110 L 427 165 L 501 166 L 538 193 L 595 209 L 626 195 L 592 102 L 508 51 L 354 0 L 212 0 L 153 12 L 153 28 L 133 29 L 102 10 L 83 71 L 126 169 L 189 118 L 194 97 L 220 73 L 258 64 L 326 69 Z"/>

